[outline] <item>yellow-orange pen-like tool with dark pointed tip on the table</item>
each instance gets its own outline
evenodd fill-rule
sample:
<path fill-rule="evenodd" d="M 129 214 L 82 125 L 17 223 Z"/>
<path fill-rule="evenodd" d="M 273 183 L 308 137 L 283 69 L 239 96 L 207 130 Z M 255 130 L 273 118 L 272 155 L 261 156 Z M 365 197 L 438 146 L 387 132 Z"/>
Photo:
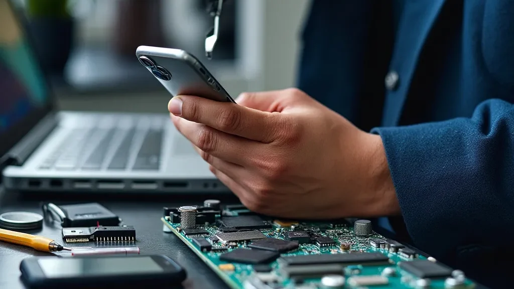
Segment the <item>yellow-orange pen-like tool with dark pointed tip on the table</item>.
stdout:
<path fill-rule="evenodd" d="M 43 252 L 71 251 L 71 248 L 64 247 L 51 239 L 5 229 L 0 229 L 0 241 L 31 247 Z"/>

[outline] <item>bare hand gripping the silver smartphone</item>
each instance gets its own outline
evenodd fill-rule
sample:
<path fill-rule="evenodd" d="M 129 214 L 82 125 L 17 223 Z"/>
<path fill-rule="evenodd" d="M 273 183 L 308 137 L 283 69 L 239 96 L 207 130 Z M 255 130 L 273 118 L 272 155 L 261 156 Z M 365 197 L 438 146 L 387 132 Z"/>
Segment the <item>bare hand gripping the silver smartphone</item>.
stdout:
<path fill-rule="evenodd" d="M 177 96 L 168 108 L 247 208 L 285 218 L 399 213 L 380 136 L 294 88 L 236 102 Z"/>

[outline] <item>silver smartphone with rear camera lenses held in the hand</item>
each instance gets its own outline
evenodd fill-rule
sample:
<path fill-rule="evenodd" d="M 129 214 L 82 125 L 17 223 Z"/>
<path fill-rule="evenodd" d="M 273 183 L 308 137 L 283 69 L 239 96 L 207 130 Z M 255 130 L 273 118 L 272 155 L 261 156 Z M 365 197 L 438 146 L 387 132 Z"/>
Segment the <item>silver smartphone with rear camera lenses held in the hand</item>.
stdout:
<path fill-rule="evenodd" d="M 207 68 L 184 50 L 139 46 L 136 56 L 172 96 L 194 95 L 235 103 Z"/>

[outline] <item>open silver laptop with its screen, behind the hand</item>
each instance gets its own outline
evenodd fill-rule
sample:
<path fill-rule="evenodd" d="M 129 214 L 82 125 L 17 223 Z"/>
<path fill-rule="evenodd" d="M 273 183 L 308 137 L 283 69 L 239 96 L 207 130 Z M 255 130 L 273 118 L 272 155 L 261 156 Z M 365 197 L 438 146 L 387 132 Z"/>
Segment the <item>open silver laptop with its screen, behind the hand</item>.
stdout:
<path fill-rule="evenodd" d="M 169 114 L 58 111 L 16 12 L 8 0 L 0 0 L 0 170 L 5 188 L 229 191 L 174 128 Z"/>

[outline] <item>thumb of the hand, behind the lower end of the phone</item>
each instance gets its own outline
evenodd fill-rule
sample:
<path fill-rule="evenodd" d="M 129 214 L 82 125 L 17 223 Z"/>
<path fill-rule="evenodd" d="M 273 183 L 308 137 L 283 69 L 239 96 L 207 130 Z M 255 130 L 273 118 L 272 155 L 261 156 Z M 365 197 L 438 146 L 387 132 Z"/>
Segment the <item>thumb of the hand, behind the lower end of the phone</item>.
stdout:
<path fill-rule="evenodd" d="M 305 93 L 296 88 L 280 91 L 245 92 L 240 94 L 235 102 L 250 109 L 263 112 L 281 112 L 287 106 L 298 104 L 304 99 Z"/>

